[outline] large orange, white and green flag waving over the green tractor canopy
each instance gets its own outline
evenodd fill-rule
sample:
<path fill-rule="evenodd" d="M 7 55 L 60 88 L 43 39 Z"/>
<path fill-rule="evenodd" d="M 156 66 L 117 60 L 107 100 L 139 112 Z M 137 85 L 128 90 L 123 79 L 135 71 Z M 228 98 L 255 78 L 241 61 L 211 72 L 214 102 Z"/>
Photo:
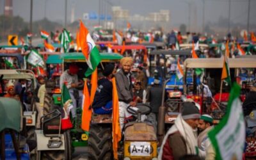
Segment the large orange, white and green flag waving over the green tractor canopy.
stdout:
<path fill-rule="evenodd" d="M 92 74 L 97 65 L 99 65 L 100 54 L 92 39 L 92 36 L 82 21 L 80 21 L 79 39 L 82 52 L 88 65 L 88 69 L 85 72 L 85 76 L 88 77 Z"/>

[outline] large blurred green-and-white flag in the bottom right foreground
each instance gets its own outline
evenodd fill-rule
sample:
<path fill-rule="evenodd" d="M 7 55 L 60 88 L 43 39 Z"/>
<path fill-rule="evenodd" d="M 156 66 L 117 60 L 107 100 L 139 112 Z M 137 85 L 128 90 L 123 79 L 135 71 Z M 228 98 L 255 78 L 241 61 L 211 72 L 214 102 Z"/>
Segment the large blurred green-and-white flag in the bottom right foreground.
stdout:
<path fill-rule="evenodd" d="M 217 160 L 243 159 L 246 129 L 240 91 L 240 86 L 234 83 L 228 100 L 227 113 L 208 133 Z"/>

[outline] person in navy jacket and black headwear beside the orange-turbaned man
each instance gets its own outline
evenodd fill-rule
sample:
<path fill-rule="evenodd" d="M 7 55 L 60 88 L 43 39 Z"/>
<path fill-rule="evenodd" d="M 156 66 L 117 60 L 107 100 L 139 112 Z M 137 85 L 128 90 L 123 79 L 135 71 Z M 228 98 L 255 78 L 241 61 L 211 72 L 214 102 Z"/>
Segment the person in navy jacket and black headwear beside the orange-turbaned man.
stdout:
<path fill-rule="evenodd" d="M 112 92 L 113 84 L 111 79 L 114 76 L 115 65 L 109 63 L 104 70 L 99 72 L 98 88 L 92 104 L 93 112 L 99 115 L 112 113 Z"/>

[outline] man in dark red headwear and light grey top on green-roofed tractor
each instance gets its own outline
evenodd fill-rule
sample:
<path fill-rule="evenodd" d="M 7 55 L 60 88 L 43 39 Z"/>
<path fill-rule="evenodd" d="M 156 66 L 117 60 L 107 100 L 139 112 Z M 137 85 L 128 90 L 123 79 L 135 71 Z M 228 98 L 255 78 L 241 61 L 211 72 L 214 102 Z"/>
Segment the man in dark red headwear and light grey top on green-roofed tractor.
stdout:
<path fill-rule="evenodd" d="M 70 97 L 73 102 L 73 108 L 71 109 L 72 117 L 76 117 L 76 108 L 82 106 L 83 93 L 81 90 L 77 90 L 76 87 L 79 86 L 78 83 L 78 67 L 75 64 L 70 64 L 68 70 L 65 70 L 60 76 L 60 87 L 62 89 L 63 84 L 65 83 Z M 78 104 L 77 104 L 78 100 Z"/>

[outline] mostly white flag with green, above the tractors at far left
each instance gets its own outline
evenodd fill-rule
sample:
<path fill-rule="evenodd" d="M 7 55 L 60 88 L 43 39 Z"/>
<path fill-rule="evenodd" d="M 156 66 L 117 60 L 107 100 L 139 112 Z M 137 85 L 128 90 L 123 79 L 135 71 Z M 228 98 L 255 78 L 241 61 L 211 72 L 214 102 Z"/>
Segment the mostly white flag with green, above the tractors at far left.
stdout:
<path fill-rule="evenodd" d="M 44 60 L 42 56 L 34 49 L 32 49 L 26 56 L 26 60 L 29 64 L 33 65 L 33 67 L 44 67 Z"/>

